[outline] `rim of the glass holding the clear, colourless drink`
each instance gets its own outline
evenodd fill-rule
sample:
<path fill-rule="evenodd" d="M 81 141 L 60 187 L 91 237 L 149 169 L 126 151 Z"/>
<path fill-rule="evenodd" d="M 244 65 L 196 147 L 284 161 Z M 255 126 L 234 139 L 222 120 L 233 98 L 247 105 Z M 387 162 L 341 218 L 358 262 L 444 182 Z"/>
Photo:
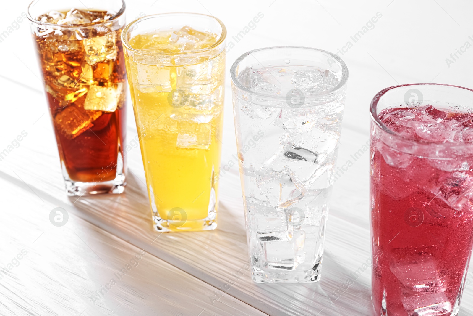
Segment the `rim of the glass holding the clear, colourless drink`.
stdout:
<path fill-rule="evenodd" d="M 324 91 L 324 93 L 320 93 L 320 94 L 317 94 L 317 95 L 314 95 L 314 96 L 305 96 L 305 99 L 314 100 L 314 99 L 320 99 L 322 97 L 326 97 L 326 96 L 335 94 L 336 92 L 338 92 L 338 90 L 340 90 L 343 86 L 346 85 L 346 83 L 348 81 L 349 72 L 348 72 L 348 67 L 345 64 L 345 62 L 342 60 L 342 58 L 340 58 L 340 56 L 338 56 L 337 54 L 333 54 L 329 51 L 319 49 L 319 48 L 307 47 L 307 46 L 271 46 L 271 47 L 263 47 L 263 48 L 253 49 L 251 51 L 246 52 L 245 54 L 242 54 L 240 57 L 238 57 L 236 59 L 236 61 L 233 63 L 233 65 L 230 68 L 230 78 L 231 78 L 233 84 L 235 84 L 235 86 L 239 90 L 243 90 L 246 93 L 249 93 L 249 94 L 254 95 L 254 96 L 267 98 L 267 99 L 272 99 L 272 100 L 286 100 L 285 95 L 273 95 L 273 94 L 266 94 L 266 93 L 261 93 L 261 92 L 254 92 L 254 91 L 246 88 L 243 84 L 241 84 L 241 82 L 236 77 L 236 68 L 238 67 L 240 62 L 243 59 L 245 59 L 245 57 L 247 57 L 248 55 L 251 55 L 255 52 L 272 50 L 272 49 L 282 49 L 282 48 L 298 48 L 298 49 L 300 48 L 300 49 L 305 49 L 305 50 L 316 51 L 318 53 L 325 53 L 325 54 L 328 54 L 331 57 L 333 57 L 333 59 L 335 59 L 337 61 L 337 63 L 340 65 L 340 67 L 342 68 L 342 77 L 341 77 L 339 83 L 335 87 L 333 87 L 333 89 L 328 90 L 328 91 Z"/>

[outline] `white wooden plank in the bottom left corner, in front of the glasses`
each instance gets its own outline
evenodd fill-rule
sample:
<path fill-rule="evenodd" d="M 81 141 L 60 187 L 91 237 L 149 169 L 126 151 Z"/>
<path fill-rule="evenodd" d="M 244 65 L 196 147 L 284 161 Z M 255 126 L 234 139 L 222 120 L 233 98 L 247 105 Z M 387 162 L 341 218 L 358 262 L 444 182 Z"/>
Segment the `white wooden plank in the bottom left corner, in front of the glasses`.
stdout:
<path fill-rule="evenodd" d="M 224 293 L 212 304 L 209 284 L 73 213 L 53 226 L 53 203 L 3 179 L 0 187 L 10 206 L 0 212 L 2 316 L 264 315 Z"/>

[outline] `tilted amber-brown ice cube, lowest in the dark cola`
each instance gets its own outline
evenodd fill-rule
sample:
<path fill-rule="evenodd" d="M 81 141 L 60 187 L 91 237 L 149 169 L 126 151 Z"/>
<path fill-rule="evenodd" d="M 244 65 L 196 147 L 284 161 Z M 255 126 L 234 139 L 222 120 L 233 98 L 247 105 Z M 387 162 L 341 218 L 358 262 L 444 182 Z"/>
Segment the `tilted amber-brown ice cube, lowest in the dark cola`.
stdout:
<path fill-rule="evenodd" d="M 73 139 L 89 127 L 102 115 L 101 111 L 87 111 L 75 106 L 68 106 L 54 117 L 55 126 L 67 138 Z"/>

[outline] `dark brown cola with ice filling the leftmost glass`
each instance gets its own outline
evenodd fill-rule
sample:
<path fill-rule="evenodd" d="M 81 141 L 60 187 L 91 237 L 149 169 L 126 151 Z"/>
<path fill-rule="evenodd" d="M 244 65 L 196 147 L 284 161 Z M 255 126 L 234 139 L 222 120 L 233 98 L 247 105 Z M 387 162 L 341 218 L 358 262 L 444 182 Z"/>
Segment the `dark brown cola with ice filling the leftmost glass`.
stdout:
<path fill-rule="evenodd" d="M 87 13 L 94 18 L 107 15 Z M 112 181 L 117 167 L 124 169 L 126 73 L 121 33 L 122 28 L 97 25 L 83 30 L 79 24 L 34 35 L 61 163 L 74 182 Z"/>

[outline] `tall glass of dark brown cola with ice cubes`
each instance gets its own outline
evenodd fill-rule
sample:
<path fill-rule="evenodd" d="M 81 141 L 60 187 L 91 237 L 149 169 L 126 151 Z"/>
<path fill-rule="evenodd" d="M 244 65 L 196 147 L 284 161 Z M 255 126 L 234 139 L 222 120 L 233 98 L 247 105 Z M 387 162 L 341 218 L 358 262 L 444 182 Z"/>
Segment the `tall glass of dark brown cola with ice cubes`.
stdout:
<path fill-rule="evenodd" d="M 122 0 L 35 0 L 28 18 L 69 195 L 125 188 Z"/>

